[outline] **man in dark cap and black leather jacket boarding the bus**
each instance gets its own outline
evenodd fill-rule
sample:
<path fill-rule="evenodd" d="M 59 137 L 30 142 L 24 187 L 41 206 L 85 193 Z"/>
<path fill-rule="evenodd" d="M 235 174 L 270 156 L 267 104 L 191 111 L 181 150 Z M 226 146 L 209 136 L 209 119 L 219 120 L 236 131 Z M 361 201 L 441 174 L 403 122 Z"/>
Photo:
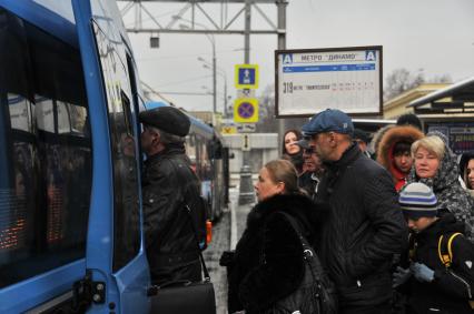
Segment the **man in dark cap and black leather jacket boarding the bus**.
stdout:
<path fill-rule="evenodd" d="M 162 107 L 141 112 L 141 148 L 147 154 L 142 176 L 145 237 L 151 282 L 200 281 L 198 242 L 186 205 L 200 206 L 199 182 L 185 154 L 189 118 Z"/>

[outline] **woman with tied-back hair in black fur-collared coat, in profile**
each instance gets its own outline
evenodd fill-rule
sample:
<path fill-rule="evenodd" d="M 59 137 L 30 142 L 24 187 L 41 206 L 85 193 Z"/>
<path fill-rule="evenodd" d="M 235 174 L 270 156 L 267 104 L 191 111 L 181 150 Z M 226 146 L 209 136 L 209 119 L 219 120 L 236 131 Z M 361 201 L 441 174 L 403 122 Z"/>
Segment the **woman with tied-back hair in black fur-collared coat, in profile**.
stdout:
<path fill-rule="evenodd" d="M 220 259 L 228 272 L 229 313 L 269 313 L 298 288 L 305 274 L 299 234 L 314 239 L 320 210 L 299 192 L 297 181 L 287 160 L 261 168 L 255 184 L 258 203 L 248 214 L 236 251 L 225 252 Z"/>

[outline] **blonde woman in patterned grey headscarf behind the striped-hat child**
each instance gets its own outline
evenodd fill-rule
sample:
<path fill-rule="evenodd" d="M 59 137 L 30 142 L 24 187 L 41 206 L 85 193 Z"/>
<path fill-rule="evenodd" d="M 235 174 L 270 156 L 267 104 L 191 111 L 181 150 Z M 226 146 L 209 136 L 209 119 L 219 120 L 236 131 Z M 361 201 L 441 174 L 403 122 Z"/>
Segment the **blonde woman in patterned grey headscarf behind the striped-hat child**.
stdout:
<path fill-rule="evenodd" d="M 457 221 L 465 223 L 466 236 L 474 239 L 474 201 L 461 186 L 456 155 L 446 145 L 441 133 L 428 133 L 412 144 L 414 168 L 408 182 L 428 185 L 438 200 L 438 207 L 446 209 Z"/>

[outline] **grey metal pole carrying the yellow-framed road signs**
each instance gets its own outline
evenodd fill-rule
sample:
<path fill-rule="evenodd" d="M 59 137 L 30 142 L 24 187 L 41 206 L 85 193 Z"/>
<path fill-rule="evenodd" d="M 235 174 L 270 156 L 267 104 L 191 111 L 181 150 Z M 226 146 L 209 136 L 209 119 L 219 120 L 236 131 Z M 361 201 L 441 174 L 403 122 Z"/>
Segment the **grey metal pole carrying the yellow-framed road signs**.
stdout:
<path fill-rule="evenodd" d="M 245 0 L 245 31 L 244 31 L 244 63 L 250 63 L 250 0 Z M 249 90 L 244 90 L 244 94 L 249 93 Z M 240 186 L 238 203 L 240 205 L 255 202 L 254 184 L 251 182 L 250 151 L 241 151 L 243 165 L 240 169 Z"/>

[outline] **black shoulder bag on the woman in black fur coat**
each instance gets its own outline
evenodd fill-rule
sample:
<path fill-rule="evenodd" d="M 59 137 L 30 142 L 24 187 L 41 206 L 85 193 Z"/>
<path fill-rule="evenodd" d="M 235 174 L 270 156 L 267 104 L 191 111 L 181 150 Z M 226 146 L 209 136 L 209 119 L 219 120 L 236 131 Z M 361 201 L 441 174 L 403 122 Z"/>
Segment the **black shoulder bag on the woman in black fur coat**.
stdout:
<path fill-rule="evenodd" d="M 274 303 L 264 314 L 336 314 L 337 296 L 315 250 L 300 234 L 295 219 L 282 213 L 298 233 L 303 245 L 305 274 L 299 286 L 292 294 Z"/>

